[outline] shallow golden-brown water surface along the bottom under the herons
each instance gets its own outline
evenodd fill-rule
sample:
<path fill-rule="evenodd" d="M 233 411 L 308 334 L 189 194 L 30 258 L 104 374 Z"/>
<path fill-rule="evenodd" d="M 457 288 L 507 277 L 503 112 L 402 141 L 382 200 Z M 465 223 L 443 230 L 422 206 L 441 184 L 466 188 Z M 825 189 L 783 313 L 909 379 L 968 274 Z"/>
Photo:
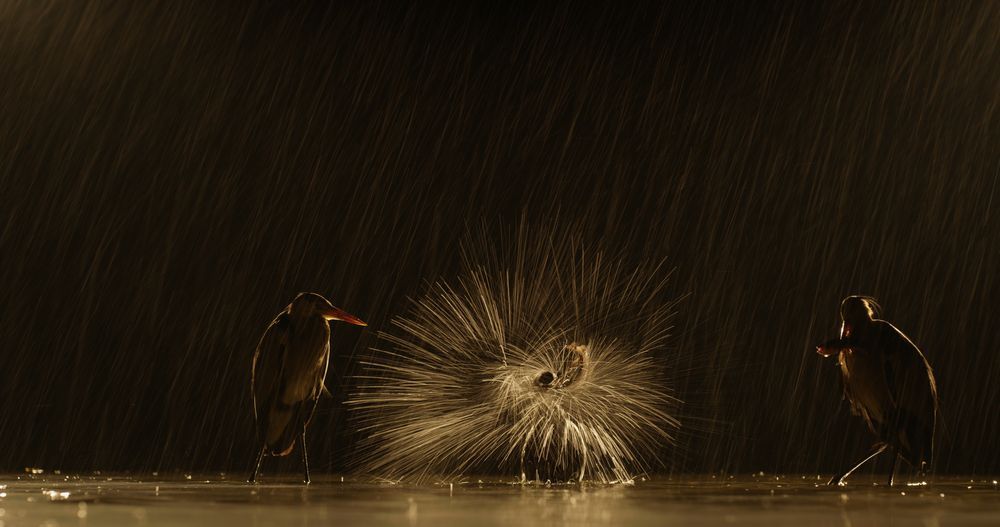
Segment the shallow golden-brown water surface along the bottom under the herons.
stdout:
<path fill-rule="evenodd" d="M 20 525 L 1000 525 L 992 478 L 831 488 L 811 476 L 652 478 L 631 485 L 421 486 L 289 476 L 0 476 L 0 527 Z"/>

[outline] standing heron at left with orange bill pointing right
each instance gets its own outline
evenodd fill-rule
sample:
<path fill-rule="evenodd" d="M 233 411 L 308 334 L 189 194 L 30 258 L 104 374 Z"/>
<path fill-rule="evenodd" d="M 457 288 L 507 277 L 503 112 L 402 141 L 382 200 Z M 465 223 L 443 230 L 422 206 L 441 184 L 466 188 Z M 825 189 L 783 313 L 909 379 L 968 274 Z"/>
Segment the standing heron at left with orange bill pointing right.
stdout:
<path fill-rule="evenodd" d="M 265 455 L 286 456 L 298 441 L 303 481 L 309 483 L 306 428 L 323 393 L 330 364 L 330 325 L 340 320 L 366 326 L 315 293 L 300 293 L 268 326 L 253 356 L 251 395 L 260 451 L 250 482 Z"/>

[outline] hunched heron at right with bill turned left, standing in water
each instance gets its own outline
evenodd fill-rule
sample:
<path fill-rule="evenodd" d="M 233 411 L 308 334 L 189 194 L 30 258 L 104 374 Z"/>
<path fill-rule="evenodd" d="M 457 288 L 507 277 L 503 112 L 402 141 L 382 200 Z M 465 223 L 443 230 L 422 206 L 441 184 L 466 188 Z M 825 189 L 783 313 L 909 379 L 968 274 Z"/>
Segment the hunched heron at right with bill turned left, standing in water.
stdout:
<path fill-rule="evenodd" d="M 892 452 L 890 486 L 900 457 L 921 474 L 932 461 L 938 413 L 934 372 L 902 331 L 875 318 L 878 310 L 871 297 L 845 298 L 840 305 L 840 338 L 816 348 L 824 357 L 837 355 L 851 412 L 860 415 L 878 438 L 868 457 L 835 475 L 829 485 L 840 485 L 887 449 Z"/>

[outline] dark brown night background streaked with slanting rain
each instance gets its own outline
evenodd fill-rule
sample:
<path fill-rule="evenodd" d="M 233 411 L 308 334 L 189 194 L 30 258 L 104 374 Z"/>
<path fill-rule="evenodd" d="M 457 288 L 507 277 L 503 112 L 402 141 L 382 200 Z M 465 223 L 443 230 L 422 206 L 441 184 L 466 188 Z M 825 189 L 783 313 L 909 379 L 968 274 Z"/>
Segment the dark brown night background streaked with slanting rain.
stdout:
<path fill-rule="evenodd" d="M 342 400 L 523 220 L 676 266 L 666 469 L 859 457 L 812 347 L 867 293 L 936 368 L 938 470 L 996 473 L 1000 3 L 728 4 L 0 3 L 0 469 L 242 471 L 296 292 L 371 324 Z M 324 402 L 317 470 L 346 427 Z"/>

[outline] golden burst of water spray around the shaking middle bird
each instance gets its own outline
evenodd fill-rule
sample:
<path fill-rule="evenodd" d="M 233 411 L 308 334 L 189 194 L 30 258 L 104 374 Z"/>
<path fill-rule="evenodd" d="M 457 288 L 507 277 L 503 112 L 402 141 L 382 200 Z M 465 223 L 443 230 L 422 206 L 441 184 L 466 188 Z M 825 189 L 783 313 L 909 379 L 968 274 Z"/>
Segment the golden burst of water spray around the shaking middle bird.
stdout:
<path fill-rule="evenodd" d="M 503 244 L 501 244 L 503 245 Z M 380 335 L 349 400 L 365 471 L 630 481 L 673 443 L 661 366 L 676 301 L 660 265 L 627 267 L 555 236 L 464 253 Z"/>

